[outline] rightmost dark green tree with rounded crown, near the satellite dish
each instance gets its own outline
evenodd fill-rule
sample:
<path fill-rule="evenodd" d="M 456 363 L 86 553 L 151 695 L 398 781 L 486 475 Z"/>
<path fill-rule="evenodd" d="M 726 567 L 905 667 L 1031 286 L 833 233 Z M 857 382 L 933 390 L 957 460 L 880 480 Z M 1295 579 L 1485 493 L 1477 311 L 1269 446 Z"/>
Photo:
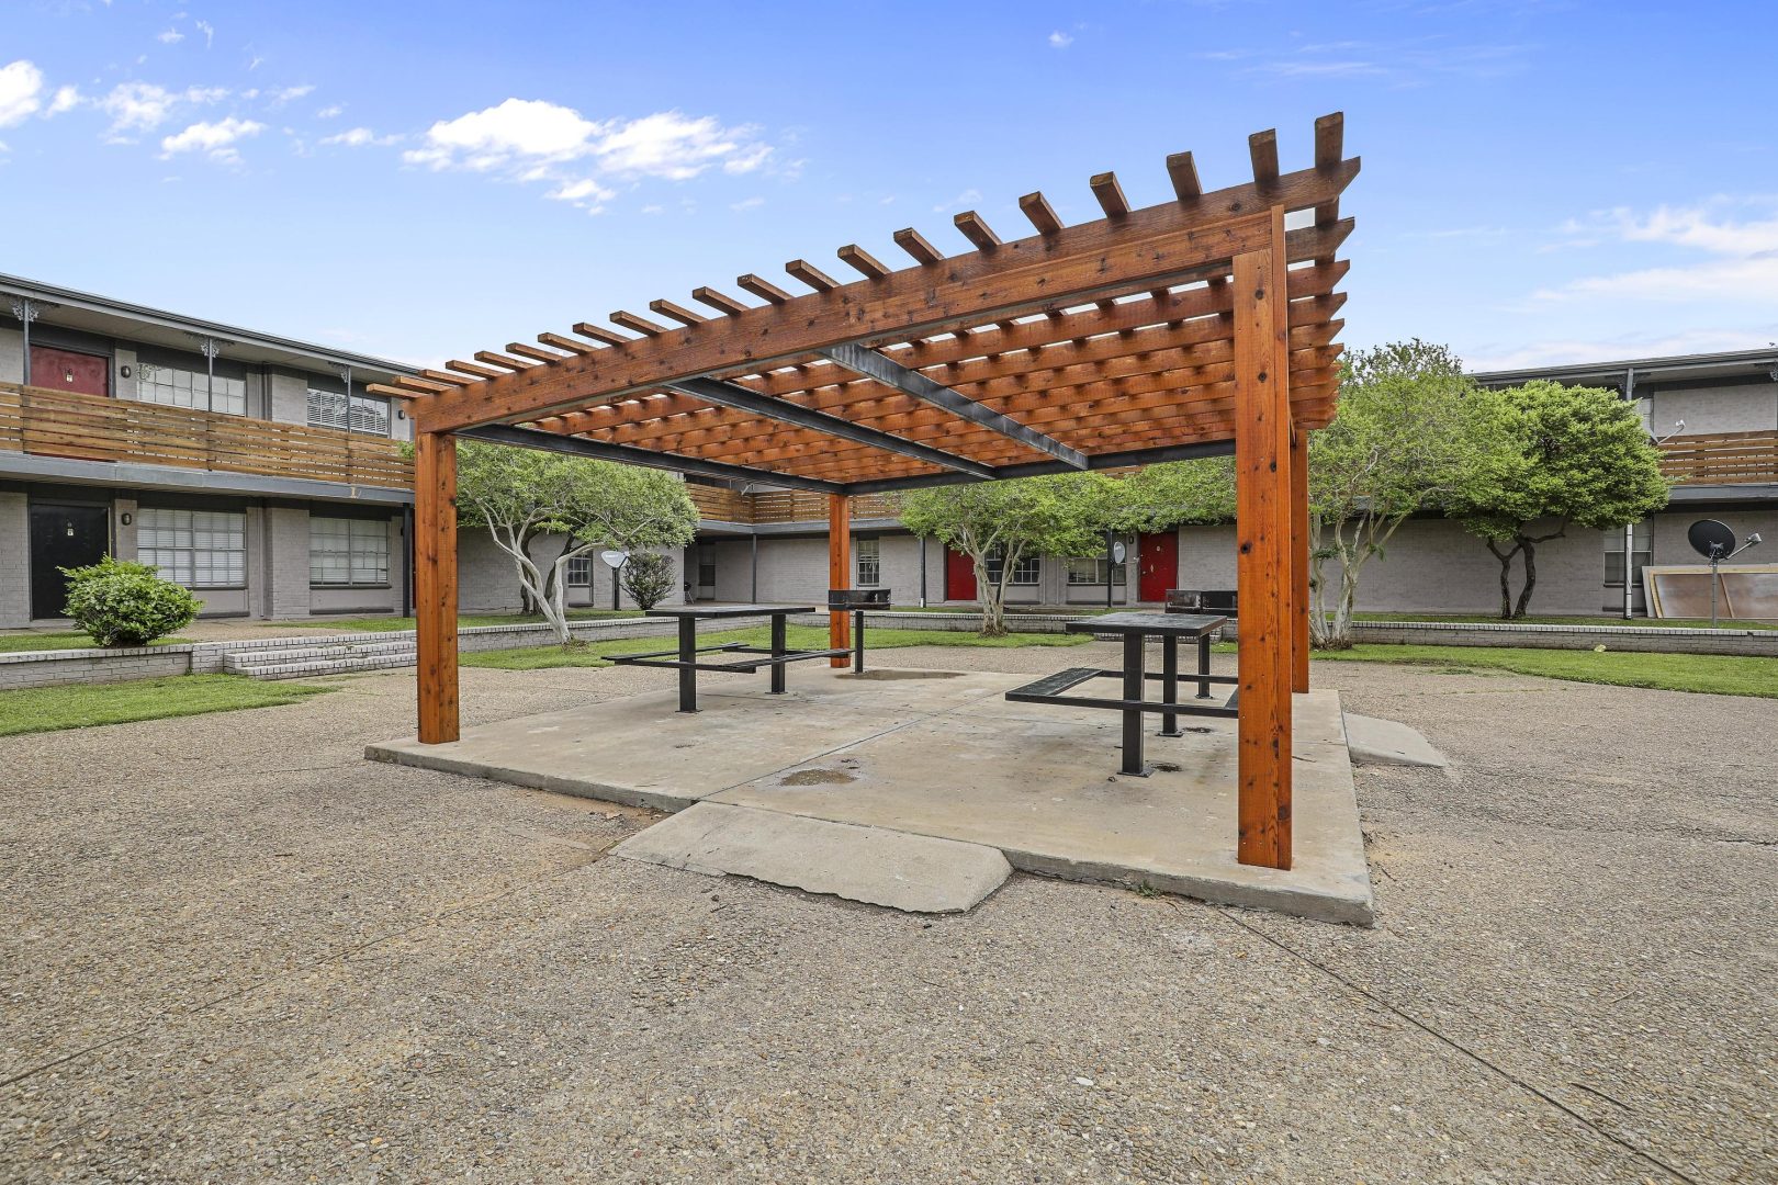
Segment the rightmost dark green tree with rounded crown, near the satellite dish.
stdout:
<path fill-rule="evenodd" d="M 1641 416 L 1613 391 L 1540 378 L 1501 391 L 1495 416 L 1508 448 L 1490 455 L 1447 512 L 1501 561 L 1501 618 L 1511 620 L 1531 606 L 1538 544 L 1561 538 L 1570 526 L 1602 531 L 1641 522 L 1666 506 L 1668 483 Z M 1515 599 L 1518 556 L 1526 577 Z"/>

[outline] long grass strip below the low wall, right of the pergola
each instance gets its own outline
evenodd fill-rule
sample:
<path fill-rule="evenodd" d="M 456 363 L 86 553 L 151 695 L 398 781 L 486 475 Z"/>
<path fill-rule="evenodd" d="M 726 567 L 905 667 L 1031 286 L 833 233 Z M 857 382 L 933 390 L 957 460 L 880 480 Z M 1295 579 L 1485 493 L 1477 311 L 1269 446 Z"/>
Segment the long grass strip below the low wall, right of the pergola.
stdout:
<path fill-rule="evenodd" d="M 1751 695 L 1778 700 L 1778 659 L 1734 654 L 1639 654 L 1634 650 L 1522 650 L 1511 647 L 1383 647 L 1316 650 L 1337 663 L 1408 663 L 1449 672 L 1506 670 L 1620 688 Z"/>

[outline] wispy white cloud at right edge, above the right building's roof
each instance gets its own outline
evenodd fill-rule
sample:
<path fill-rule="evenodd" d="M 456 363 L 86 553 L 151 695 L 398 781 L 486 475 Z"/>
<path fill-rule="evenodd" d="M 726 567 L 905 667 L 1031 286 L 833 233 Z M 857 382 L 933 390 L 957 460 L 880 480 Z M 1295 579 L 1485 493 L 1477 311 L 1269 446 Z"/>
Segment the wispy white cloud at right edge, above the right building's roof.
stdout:
<path fill-rule="evenodd" d="M 1753 217 L 1737 208 L 1760 206 Z M 1718 197 L 1700 206 L 1661 206 L 1648 215 L 1607 210 L 1563 227 L 1582 242 L 1666 247 L 1703 256 L 1606 275 L 1536 293 L 1540 300 L 1630 298 L 1664 302 L 1762 302 L 1778 306 L 1778 203 Z"/>

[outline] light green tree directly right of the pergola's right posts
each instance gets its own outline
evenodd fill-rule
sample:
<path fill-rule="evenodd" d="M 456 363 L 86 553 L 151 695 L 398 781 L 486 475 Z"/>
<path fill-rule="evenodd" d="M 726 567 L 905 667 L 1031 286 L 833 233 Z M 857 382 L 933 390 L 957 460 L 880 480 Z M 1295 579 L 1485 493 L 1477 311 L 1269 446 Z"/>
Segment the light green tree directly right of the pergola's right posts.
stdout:
<path fill-rule="evenodd" d="M 1314 647 L 1351 647 L 1358 576 L 1410 515 L 1472 490 L 1494 471 L 1504 437 L 1492 403 L 1447 346 L 1419 338 L 1346 359 L 1339 416 L 1309 437 Z M 1337 581 L 1330 560 L 1339 561 Z"/>

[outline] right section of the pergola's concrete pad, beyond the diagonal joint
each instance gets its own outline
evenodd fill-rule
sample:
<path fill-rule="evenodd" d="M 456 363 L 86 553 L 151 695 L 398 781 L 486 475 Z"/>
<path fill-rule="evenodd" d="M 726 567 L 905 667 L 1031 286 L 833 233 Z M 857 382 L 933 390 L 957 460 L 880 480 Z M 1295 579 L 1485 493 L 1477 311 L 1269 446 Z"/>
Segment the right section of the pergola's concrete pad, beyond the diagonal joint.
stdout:
<path fill-rule="evenodd" d="M 1369 926 L 1371 874 L 1339 696 L 1296 696 L 1289 872 L 1236 862 L 1234 721 L 1195 718 L 1147 741 L 1156 771 L 1117 775 L 1113 712 L 1093 723 L 981 705 L 884 732 L 713 801 L 992 844 L 1015 869 L 1149 883 L 1200 901 Z M 1003 709 L 1021 709 L 1008 712 Z"/>

